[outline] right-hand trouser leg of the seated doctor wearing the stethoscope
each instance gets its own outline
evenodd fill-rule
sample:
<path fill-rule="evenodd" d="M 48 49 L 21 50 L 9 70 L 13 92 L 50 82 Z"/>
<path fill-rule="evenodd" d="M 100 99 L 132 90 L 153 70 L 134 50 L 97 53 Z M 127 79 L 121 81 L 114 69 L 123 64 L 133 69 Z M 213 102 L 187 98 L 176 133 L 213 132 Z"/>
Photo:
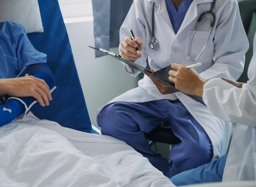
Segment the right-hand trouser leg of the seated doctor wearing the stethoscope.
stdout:
<path fill-rule="evenodd" d="M 213 148 L 209 136 L 179 101 L 170 102 L 168 116 L 173 134 L 181 143 L 173 145 L 169 152 L 172 176 L 209 163 Z"/>

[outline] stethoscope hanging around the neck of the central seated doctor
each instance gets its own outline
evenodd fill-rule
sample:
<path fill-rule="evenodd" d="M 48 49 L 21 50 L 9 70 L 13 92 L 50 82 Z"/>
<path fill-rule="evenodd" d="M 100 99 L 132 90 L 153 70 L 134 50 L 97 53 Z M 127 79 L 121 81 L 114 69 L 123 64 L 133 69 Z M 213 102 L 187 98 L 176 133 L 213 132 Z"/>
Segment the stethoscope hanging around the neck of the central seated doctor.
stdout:
<path fill-rule="evenodd" d="M 216 20 L 216 18 L 215 18 L 215 14 L 213 13 L 213 8 L 214 8 L 214 5 L 215 5 L 215 3 L 216 3 L 216 0 L 213 0 L 213 2 L 211 3 L 211 9 L 209 10 L 209 11 L 205 11 L 205 12 L 203 12 L 200 16 L 199 16 L 199 18 L 198 18 L 198 21 L 197 21 L 197 24 L 195 25 L 195 29 L 193 30 L 193 33 L 192 33 L 192 36 L 191 36 L 191 39 L 190 39 L 190 42 L 189 42 L 189 56 L 187 57 L 189 60 L 191 60 L 191 61 L 196 61 L 196 60 L 198 60 L 198 58 L 201 56 L 201 54 L 202 54 L 202 52 L 204 51 L 204 48 L 206 47 L 206 45 L 207 45 L 207 42 L 208 42 L 208 40 L 209 40 L 209 38 L 210 38 L 210 35 L 211 35 L 211 32 L 212 32 L 212 30 L 213 30 L 213 26 L 214 26 L 214 23 L 215 23 L 215 20 Z M 154 23 L 154 12 L 155 12 L 155 2 L 153 2 L 153 6 L 152 6 L 152 40 L 150 41 L 150 43 L 149 43 L 149 47 L 151 48 L 151 49 L 153 49 L 153 50 L 157 50 L 157 49 L 159 49 L 159 42 L 157 41 L 157 39 L 155 38 L 155 23 Z M 205 42 L 205 44 L 204 44 L 204 47 L 203 47 L 203 49 L 202 49 L 202 51 L 199 53 L 199 55 L 195 58 L 195 59 L 191 59 L 191 57 L 190 57 L 190 52 L 191 52 L 191 44 L 192 44 L 192 41 L 193 41 L 193 38 L 194 38 L 194 35 L 195 35 L 195 31 L 196 31 L 196 29 L 197 29 L 197 27 L 198 27 L 198 24 L 202 21 L 202 19 L 204 19 L 204 18 L 207 18 L 207 17 L 203 17 L 205 14 L 207 14 L 207 13 L 210 13 L 212 16 L 213 16 L 213 20 L 211 20 L 210 18 L 210 20 L 211 20 L 211 29 L 210 29 L 210 31 L 209 31 L 209 35 L 208 35 L 208 38 L 207 38 L 207 40 L 206 40 L 206 42 Z"/>

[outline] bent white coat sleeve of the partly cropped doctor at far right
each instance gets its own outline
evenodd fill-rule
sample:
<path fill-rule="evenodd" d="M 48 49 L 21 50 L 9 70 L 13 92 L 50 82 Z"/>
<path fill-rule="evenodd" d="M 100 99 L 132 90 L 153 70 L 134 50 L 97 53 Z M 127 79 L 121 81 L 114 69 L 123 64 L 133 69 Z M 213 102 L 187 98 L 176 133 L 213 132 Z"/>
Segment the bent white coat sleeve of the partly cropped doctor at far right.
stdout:
<path fill-rule="evenodd" d="M 255 91 L 254 87 L 250 88 L 247 84 L 238 88 L 216 78 L 204 85 L 203 100 L 218 118 L 255 126 Z"/>

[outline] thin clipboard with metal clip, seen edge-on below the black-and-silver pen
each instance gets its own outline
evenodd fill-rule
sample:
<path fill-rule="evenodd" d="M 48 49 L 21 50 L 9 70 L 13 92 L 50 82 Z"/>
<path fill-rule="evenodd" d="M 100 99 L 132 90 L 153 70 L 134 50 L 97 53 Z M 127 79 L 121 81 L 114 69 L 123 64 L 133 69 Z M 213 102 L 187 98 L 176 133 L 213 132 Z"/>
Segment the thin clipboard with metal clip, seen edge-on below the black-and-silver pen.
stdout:
<path fill-rule="evenodd" d="M 150 69 L 148 69 L 148 68 L 146 68 L 146 67 L 142 67 L 141 65 L 138 65 L 138 64 L 136 64 L 136 63 L 134 63 L 134 62 L 132 62 L 132 61 L 130 61 L 130 60 L 127 60 L 127 59 L 125 59 L 125 58 L 122 58 L 120 55 L 117 55 L 116 53 L 113 53 L 113 52 L 111 52 L 111 51 L 107 51 L 107 50 L 102 49 L 102 48 L 97 49 L 97 48 L 91 47 L 91 46 L 88 46 L 88 47 L 90 47 L 90 48 L 92 48 L 92 49 L 95 49 L 95 50 L 98 50 L 98 51 L 101 51 L 101 52 L 103 52 L 103 53 L 106 53 L 106 54 L 108 54 L 109 56 L 111 56 L 111 57 L 113 57 L 113 58 L 116 58 L 117 60 L 120 60 L 120 61 L 122 61 L 122 62 L 128 64 L 130 67 L 133 67 L 133 68 L 135 68 L 135 69 L 141 71 L 142 73 L 144 73 L 144 72 L 143 72 L 144 70 L 149 71 L 149 72 L 152 73 L 152 71 L 150 71 Z"/>

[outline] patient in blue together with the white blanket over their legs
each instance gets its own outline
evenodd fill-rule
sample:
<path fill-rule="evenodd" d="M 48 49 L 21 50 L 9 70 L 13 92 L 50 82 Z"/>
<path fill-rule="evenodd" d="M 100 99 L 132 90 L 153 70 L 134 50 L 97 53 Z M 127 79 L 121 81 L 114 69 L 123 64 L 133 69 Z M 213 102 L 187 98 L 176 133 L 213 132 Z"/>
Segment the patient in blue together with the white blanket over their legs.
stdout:
<path fill-rule="evenodd" d="M 34 116 L 31 105 L 49 105 L 55 86 L 46 59 L 22 25 L 0 23 L 1 186 L 174 186 L 125 142 Z"/>

